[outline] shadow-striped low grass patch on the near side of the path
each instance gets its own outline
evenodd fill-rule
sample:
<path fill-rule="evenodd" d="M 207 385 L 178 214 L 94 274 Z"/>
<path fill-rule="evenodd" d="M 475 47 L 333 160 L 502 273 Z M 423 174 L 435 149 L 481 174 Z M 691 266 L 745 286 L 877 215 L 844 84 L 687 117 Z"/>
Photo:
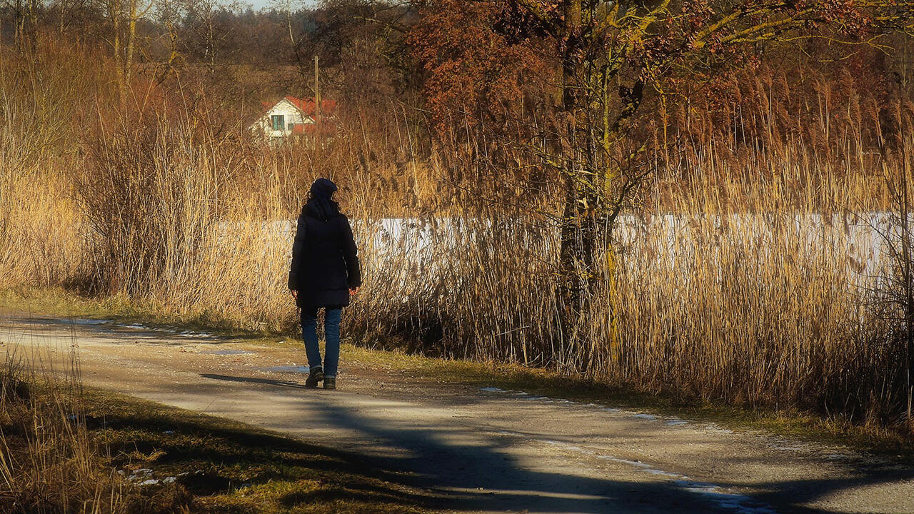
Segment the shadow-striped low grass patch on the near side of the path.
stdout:
<path fill-rule="evenodd" d="M 416 491 L 357 455 L 107 391 L 85 401 L 90 437 L 154 500 L 146 504 L 213 514 L 427 512 Z"/>

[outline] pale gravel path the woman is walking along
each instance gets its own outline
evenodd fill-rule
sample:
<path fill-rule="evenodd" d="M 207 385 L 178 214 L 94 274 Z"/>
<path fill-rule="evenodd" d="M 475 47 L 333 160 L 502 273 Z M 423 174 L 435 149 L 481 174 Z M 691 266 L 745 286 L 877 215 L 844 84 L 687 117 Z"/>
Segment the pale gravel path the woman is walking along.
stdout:
<path fill-rule="evenodd" d="M 76 344 L 89 385 L 365 455 L 443 509 L 914 512 L 914 469 L 818 444 L 352 361 L 340 390 L 305 390 L 293 346 L 95 320 L 0 324 L 7 351 L 62 357 Z"/>

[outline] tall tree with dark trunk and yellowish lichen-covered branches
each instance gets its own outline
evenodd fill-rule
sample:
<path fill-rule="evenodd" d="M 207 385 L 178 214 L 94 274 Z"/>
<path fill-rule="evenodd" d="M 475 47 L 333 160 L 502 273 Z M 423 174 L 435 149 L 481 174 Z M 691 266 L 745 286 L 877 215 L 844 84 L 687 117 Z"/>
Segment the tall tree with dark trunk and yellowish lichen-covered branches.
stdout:
<path fill-rule="evenodd" d="M 441 0 L 427 12 L 439 13 L 437 23 L 455 9 L 486 4 L 492 5 L 488 23 L 502 36 L 494 52 L 527 46 L 558 68 L 555 122 L 528 123 L 532 135 L 521 143 L 564 181 L 558 291 L 562 333 L 572 341 L 584 325 L 594 285 L 612 280 L 613 222 L 654 167 L 647 157 L 656 154 L 648 152 L 647 140 L 632 136 L 667 100 L 667 80 L 713 80 L 752 52 L 812 38 L 879 46 L 888 34 L 914 31 L 910 0 Z M 480 48 L 468 52 L 455 40 L 460 37 L 428 25 L 413 38 L 431 61 L 426 68 L 437 91 L 445 89 L 441 83 L 458 87 L 466 80 L 462 74 L 474 72 L 471 65 L 448 63 L 481 60 L 473 55 Z M 491 102 L 480 109 L 500 106 Z"/>

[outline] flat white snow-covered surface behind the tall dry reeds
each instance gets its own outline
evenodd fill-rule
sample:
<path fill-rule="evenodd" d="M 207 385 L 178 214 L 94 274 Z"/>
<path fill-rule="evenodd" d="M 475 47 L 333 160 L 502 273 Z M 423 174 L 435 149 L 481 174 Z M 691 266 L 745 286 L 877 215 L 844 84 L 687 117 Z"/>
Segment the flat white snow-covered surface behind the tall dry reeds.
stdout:
<path fill-rule="evenodd" d="M 914 218 L 912 218 L 914 223 Z M 481 237 L 512 237 L 526 241 L 548 259 L 558 245 L 558 225 L 552 230 L 533 227 L 523 220 L 470 220 L 459 218 L 384 218 L 351 220 L 360 252 L 373 266 L 386 262 L 411 263 L 423 276 L 438 273 L 453 252 L 465 251 Z M 265 222 L 264 248 L 289 252 L 294 220 Z M 247 224 L 223 223 L 220 230 L 250 230 Z M 817 213 L 729 214 L 728 216 L 663 214 L 620 216 L 613 237 L 623 249 L 622 258 L 632 265 L 644 259 L 664 260 L 668 266 L 692 266 L 719 260 L 724 244 L 748 245 L 757 253 L 829 252 L 845 259 L 848 276 L 857 284 L 876 280 L 885 273 L 891 244 L 899 231 L 898 218 L 888 212 L 845 212 L 824 216 Z M 700 239 L 700 241 L 699 241 Z M 651 247 L 645 246 L 645 241 Z M 653 242 L 651 242 L 653 241 Z M 781 248 L 784 244 L 797 248 Z M 799 249 L 799 250 L 798 250 Z"/>

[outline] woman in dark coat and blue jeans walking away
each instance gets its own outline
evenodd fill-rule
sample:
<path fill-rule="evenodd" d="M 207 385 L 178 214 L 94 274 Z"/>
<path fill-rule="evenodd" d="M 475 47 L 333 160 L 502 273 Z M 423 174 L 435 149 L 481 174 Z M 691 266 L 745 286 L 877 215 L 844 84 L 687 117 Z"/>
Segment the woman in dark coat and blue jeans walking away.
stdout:
<path fill-rule="evenodd" d="M 308 355 L 308 378 L 304 387 L 336 389 L 340 356 L 340 317 L 349 296 L 358 293 L 362 275 L 356 241 L 349 220 L 340 213 L 333 195 L 336 185 L 318 178 L 311 185 L 308 202 L 298 217 L 292 244 L 289 289 L 302 309 L 302 337 Z M 324 308 L 324 362 L 317 344 L 317 309 Z"/>

